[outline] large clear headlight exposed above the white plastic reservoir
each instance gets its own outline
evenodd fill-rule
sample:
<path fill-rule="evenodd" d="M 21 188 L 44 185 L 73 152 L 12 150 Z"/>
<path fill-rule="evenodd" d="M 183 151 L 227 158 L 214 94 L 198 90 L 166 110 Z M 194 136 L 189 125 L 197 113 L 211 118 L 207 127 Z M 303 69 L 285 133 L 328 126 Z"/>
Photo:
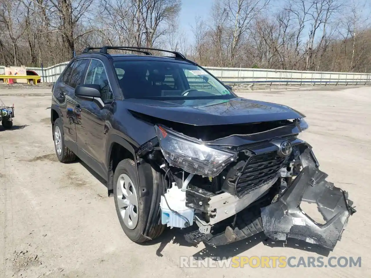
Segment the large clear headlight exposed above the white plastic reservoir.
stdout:
<path fill-rule="evenodd" d="M 155 129 L 167 162 L 186 172 L 213 177 L 237 159 L 236 152 L 211 148 L 164 126 L 156 125 Z"/>

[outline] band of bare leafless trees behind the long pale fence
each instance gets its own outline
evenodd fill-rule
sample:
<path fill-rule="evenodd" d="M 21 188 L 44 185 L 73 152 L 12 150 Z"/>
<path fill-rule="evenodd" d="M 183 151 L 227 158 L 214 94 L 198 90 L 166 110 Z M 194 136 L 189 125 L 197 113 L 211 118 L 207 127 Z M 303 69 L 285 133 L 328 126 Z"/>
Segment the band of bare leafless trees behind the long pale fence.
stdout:
<path fill-rule="evenodd" d="M 180 0 L 3 0 L 0 63 L 51 66 L 87 46 L 128 45 L 177 50 L 204 66 L 370 70 L 370 1 L 277 3 L 216 0 L 189 39 Z"/>

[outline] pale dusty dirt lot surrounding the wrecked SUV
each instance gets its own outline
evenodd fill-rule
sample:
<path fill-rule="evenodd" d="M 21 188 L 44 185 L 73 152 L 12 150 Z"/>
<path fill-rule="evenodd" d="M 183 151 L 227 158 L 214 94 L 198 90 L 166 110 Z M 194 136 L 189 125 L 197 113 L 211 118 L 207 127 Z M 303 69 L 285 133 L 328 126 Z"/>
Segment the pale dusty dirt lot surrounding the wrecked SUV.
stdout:
<path fill-rule="evenodd" d="M 57 161 L 50 128 L 50 87 L 8 89 L 13 130 L 0 127 L 0 277 L 370 277 L 370 87 L 240 93 L 279 102 L 307 115 L 307 140 L 329 174 L 357 206 L 334 252 L 263 236 L 205 248 L 177 230 L 137 245 L 119 225 L 113 198 L 81 162 Z M 180 255 L 362 257 L 362 267 L 180 268 Z M 207 260 L 207 259 L 206 259 Z M 335 260 L 336 261 L 336 260 Z M 295 262 L 296 263 L 296 262 Z"/>

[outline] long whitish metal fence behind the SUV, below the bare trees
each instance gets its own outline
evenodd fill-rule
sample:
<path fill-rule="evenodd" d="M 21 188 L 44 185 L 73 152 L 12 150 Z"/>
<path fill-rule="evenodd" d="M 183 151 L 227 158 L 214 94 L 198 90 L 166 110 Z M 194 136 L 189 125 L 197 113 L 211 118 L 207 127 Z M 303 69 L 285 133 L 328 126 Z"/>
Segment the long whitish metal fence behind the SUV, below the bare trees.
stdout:
<path fill-rule="evenodd" d="M 35 71 L 42 77 L 42 82 L 55 82 L 68 62 L 54 66 L 26 67 Z M 369 84 L 371 73 L 347 73 L 347 72 L 309 72 L 299 70 L 274 70 L 274 69 L 247 69 L 230 67 L 205 67 L 211 74 L 221 81 L 229 84 L 239 83 L 318 83 L 318 84 Z M 0 74 L 4 72 L 4 66 L 0 66 Z"/>

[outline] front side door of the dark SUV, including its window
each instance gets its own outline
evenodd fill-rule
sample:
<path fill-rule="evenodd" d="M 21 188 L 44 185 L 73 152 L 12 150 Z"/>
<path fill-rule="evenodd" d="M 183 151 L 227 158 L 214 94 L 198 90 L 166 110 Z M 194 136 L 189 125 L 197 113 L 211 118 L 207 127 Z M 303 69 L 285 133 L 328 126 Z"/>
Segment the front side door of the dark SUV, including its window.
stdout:
<path fill-rule="evenodd" d="M 75 113 L 78 156 L 99 175 L 106 178 L 105 120 L 114 100 L 106 69 L 101 60 L 92 59 L 83 84 L 101 86 L 101 99 L 78 96 Z"/>

